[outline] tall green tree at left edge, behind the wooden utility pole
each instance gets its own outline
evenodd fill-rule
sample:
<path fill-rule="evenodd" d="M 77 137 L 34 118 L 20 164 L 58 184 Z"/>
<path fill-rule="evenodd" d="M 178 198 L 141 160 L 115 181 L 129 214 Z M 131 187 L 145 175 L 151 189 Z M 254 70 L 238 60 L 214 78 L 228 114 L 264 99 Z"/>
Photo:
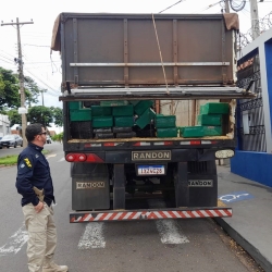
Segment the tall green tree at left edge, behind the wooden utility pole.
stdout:
<path fill-rule="evenodd" d="M 0 67 L 0 109 L 20 107 L 18 81 L 12 71 Z"/>

